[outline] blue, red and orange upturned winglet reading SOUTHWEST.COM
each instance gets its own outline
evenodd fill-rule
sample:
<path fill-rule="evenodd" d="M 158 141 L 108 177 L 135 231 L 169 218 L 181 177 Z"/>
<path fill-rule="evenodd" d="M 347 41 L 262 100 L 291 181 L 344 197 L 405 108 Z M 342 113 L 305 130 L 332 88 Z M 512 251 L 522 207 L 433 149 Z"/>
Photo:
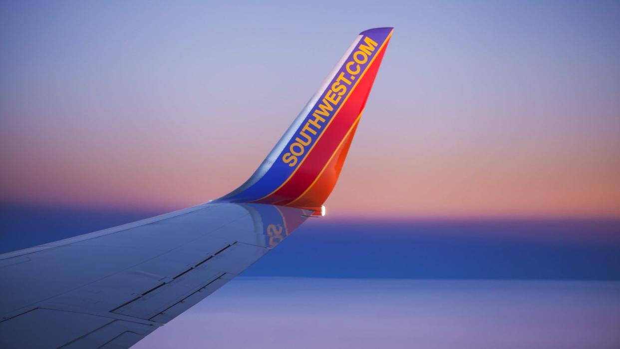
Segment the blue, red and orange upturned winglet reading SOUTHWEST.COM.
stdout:
<path fill-rule="evenodd" d="M 393 30 L 361 32 L 252 177 L 217 201 L 321 212 L 340 175 Z"/>

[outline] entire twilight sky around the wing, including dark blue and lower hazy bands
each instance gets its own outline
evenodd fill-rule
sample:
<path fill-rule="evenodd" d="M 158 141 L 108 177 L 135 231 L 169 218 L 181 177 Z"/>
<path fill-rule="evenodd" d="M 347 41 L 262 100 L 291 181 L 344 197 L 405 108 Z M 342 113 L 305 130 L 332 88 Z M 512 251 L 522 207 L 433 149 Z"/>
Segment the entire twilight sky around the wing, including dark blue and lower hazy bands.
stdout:
<path fill-rule="evenodd" d="M 0 253 L 225 195 L 357 33 L 395 28 L 327 216 L 136 348 L 618 347 L 620 2 L 0 19 Z"/>

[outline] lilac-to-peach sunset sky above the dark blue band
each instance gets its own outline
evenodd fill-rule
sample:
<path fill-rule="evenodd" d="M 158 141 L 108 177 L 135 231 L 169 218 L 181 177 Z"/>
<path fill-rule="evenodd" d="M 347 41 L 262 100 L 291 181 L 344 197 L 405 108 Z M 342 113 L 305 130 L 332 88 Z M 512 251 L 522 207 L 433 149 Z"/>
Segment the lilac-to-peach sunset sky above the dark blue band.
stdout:
<path fill-rule="evenodd" d="M 2 2 L 0 200 L 166 211 L 244 182 L 395 27 L 329 214 L 620 217 L 615 1 Z"/>

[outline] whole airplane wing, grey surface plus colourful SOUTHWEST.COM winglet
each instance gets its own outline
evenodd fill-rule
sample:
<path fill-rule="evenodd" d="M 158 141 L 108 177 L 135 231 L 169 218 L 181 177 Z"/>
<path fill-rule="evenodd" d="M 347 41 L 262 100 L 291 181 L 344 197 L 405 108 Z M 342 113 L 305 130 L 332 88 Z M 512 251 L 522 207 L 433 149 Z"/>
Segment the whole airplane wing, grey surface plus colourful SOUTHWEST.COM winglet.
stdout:
<path fill-rule="evenodd" d="M 0 255 L 0 347 L 131 347 L 324 214 L 391 33 L 361 32 L 228 195 Z"/>

